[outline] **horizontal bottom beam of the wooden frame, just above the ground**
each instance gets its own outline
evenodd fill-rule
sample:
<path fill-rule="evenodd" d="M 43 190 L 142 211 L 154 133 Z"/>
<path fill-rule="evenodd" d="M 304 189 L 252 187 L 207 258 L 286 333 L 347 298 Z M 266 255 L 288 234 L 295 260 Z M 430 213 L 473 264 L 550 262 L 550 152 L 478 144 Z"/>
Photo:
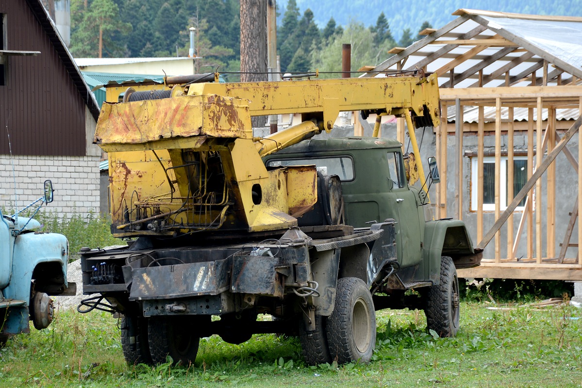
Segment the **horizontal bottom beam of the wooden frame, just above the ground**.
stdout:
<path fill-rule="evenodd" d="M 488 277 L 490 279 L 537 279 L 537 280 L 582 280 L 582 270 L 572 268 L 496 268 L 478 266 L 475 268 L 457 269 L 459 277 Z"/>

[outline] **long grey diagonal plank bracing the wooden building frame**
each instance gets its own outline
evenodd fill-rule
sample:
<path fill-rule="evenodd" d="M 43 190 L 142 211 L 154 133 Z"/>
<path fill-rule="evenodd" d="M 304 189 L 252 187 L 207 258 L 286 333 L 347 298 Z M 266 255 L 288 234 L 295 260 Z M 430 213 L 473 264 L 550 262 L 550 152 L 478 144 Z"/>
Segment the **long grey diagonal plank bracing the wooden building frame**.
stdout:
<path fill-rule="evenodd" d="M 565 136 L 562 138 L 560 143 L 558 143 L 556 145 L 556 147 L 553 149 L 553 151 L 550 152 L 550 154 L 548 154 L 548 156 L 546 156 L 544 161 L 540 165 L 537 166 L 537 169 L 535 170 L 535 173 L 531 176 L 531 179 L 529 179 L 526 182 L 526 184 L 524 184 L 524 186 L 521 188 L 519 193 L 517 193 L 516 197 L 513 198 L 513 201 L 509 204 L 508 208 L 505 209 L 505 211 L 503 212 L 501 217 L 499 217 L 499 219 L 495 221 L 494 225 L 491 227 L 491 229 L 489 229 L 489 232 L 487 232 L 487 234 L 485 234 L 485 237 L 483 237 L 483 239 L 477 245 L 477 248 L 484 248 L 485 245 L 487 245 L 489 243 L 489 241 L 491 241 L 491 239 L 495 236 L 495 233 L 498 232 L 498 230 L 501 228 L 501 226 L 508 219 L 509 213 L 511 213 L 515 210 L 517 205 L 519 205 L 519 202 L 521 202 L 521 200 L 523 200 L 523 198 L 526 197 L 528 191 L 530 191 L 531 188 L 534 187 L 535 183 L 537 183 L 537 181 L 540 179 L 540 177 L 545 172 L 545 170 L 548 169 L 549 164 L 556 158 L 556 156 L 558 156 L 558 154 L 560 152 L 562 152 L 562 148 L 568 143 L 568 141 L 570 141 L 570 138 L 572 138 L 574 136 L 574 134 L 576 134 L 576 132 L 580 128 L 581 123 L 582 123 L 582 115 L 578 119 L 576 119 L 576 122 L 574 122 L 574 124 L 572 124 L 572 127 L 570 127 L 570 129 L 566 132 Z M 582 147 L 580 147 L 580 148 L 582 148 Z M 541 152 L 540 152 L 540 154 L 541 154 Z M 582 172 L 582 169 L 579 169 L 579 173 L 580 172 Z M 538 200 L 536 202 L 538 202 Z M 582 233 L 582 230 L 581 230 L 581 233 Z"/>

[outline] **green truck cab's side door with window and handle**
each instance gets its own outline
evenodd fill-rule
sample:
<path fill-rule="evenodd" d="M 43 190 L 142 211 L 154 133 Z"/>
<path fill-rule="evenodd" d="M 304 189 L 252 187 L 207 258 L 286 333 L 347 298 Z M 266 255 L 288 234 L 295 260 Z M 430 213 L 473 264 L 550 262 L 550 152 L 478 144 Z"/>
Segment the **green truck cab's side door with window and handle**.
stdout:
<path fill-rule="evenodd" d="M 388 212 L 396 220 L 396 252 L 400 266 L 415 265 L 422 259 L 420 247 L 420 220 L 416 194 L 410 190 L 404 175 L 404 161 L 400 152 L 389 151 L 386 154 L 389 181 L 392 190 L 387 195 Z"/>

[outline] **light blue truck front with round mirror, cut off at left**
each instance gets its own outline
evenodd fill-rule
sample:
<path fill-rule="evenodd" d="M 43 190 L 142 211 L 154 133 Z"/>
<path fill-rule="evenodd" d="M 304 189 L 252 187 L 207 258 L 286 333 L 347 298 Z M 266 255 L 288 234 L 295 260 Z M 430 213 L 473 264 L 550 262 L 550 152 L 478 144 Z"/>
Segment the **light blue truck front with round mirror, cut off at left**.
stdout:
<path fill-rule="evenodd" d="M 44 195 L 25 209 L 36 206 L 36 214 L 52 197 L 47 180 Z M 13 334 L 29 333 L 29 321 L 38 330 L 47 328 L 54 312 L 49 296 L 76 291 L 76 284 L 67 282 L 66 237 L 40 232 L 40 227 L 33 218 L 5 215 L 0 209 L 0 346 Z"/>

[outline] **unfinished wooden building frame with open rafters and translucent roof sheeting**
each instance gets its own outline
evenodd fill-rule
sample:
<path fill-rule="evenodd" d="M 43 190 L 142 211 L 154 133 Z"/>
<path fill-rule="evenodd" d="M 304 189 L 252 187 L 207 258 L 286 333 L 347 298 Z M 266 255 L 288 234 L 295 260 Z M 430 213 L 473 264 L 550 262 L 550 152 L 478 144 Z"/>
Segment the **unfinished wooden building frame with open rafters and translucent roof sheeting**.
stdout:
<path fill-rule="evenodd" d="M 559 50 L 560 45 L 572 44 L 567 34 L 558 38 L 563 41 L 544 44 L 546 37 L 559 36 L 555 30 L 566 26 L 570 33 L 577 29 L 582 37 L 582 17 L 470 9 L 457 10 L 453 15 L 459 17 L 439 30 L 423 31 L 427 36 L 410 47 L 392 49 L 394 55 L 366 75 L 423 71 L 439 76 L 443 120 L 435 128 L 435 146 L 441 179 L 448 178 L 449 185 L 437 188 L 436 218 L 466 218 L 467 225 L 476 230 L 472 237 L 477 246 L 487 247 L 482 265 L 459 270 L 459 276 L 582 280 L 582 255 L 577 254 L 578 243 L 571 242 L 575 230 L 577 239 L 572 240 L 582 241 L 582 222 L 577 222 L 582 187 L 576 188 L 582 180 L 578 162 L 582 160 L 582 147 L 574 145 L 578 148 L 576 156 L 568 147 L 573 137 L 582 144 L 582 55 L 565 56 Z M 554 33 L 544 33 L 544 29 Z M 582 52 L 582 40 L 574 45 L 579 45 L 577 51 Z M 466 116 L 469 112 L 472 122 Z M 397 137 L 403 141 L 404 120 L 398 120 Z M 523 156 L 527 155 L 527 182 L 514 193 L 517 134 L 527 139 L 520 149 Z M 463 203 L 468 194 L 463 141 L 470 137 L 477 137 L 475 212 L 467 201 Z M 479 194 L 483 193 L 486 142 L 494 143 L 489 147 L 494 149 L 491 154 L 497 177 L 494 212 L 483 210 L 483 195 Z M 500 197 L 502 152 L 507 160 L 506 209 L 501 208 Z M 558 155 L 571 165 L 570 171 L 563 166 L 556 171 Z M 455 193 L 448 198 L 446 187 L 451 186 L 451 179 Z M 565 187 L 574 187 L 573 195 L 564 197 Z M 558 197 L 560 205 L 570 203 L 567 222 L 556 222 Z M 524 198 L 523 211 L 514 212 Z M 488 224 L 492 226 L 486 228 Z M 563 238 L 558 241 L 557 236 Z M 519 250 L 524 254 L 518 254 Z"/>

